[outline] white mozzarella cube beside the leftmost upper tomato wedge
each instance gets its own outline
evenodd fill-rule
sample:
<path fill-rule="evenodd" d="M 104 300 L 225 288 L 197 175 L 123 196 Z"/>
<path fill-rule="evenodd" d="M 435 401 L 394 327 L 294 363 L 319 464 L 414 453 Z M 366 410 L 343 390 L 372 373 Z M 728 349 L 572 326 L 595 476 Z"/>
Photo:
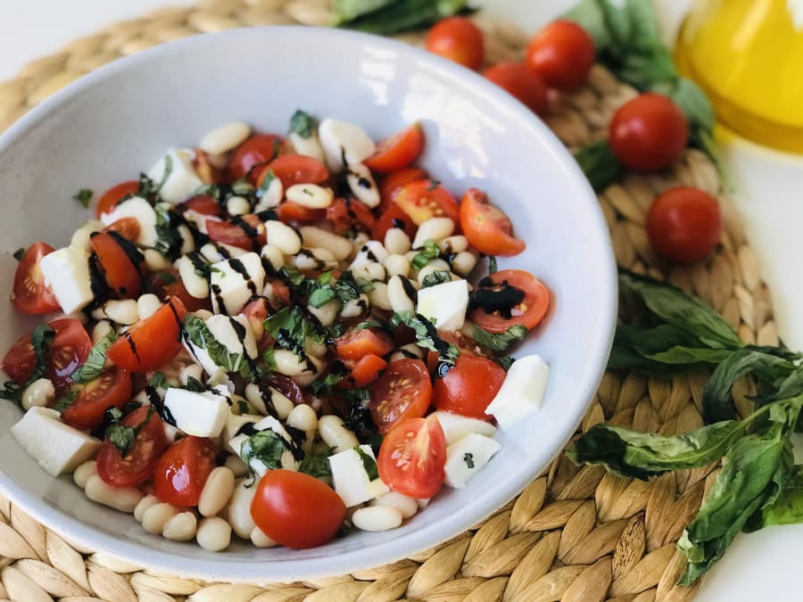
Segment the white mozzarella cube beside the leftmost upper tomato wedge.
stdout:
<path fill-rule="evenodd" d="M 89 253 L 83 249 L 70 246 L 48 253 L 39 261 L 39 268 L 65 314 L 84 309 L 95 299 Z"/>

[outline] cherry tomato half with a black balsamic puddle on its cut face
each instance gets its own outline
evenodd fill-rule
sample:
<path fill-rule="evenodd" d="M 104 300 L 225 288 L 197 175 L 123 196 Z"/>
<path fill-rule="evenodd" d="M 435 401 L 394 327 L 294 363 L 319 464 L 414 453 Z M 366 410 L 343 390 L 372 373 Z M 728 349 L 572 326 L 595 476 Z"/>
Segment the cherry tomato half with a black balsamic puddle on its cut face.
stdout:
<path fill-rule="evenodd" d="M 487 302 L 471 312 L 471 320 L 489 333 L 510 326 L 538 326 L 550 307 L 550 292 L 538 278 L 523 269 L 501 269 L 477 283 L 475 298 Z"/>

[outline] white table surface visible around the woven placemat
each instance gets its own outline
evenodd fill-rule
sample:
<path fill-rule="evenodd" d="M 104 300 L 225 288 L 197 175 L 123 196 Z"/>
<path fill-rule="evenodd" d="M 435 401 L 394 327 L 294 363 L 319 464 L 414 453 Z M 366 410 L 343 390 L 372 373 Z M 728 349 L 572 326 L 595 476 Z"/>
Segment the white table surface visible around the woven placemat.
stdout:
<path fill-rule="evenodd" d="M 4 0 L 0 3 L 0 79 L 12 78 L 27 62 L 57 51 L 103 25 L 191 0 Z M 515 18 L 529 31 L 574 4 L 573 0 L 486 0 L 487 10 Z M 671 39 L 690 0 L 658 0 L 667 39 Z M 803 348 L 803 157 L 775 153 L 746 141 L 724 149 L 735 180 L 736 202 L 747 224 L 761 271 L 774 293 L 779 332 L 795 349 Z M 708 575 L 700 602 L 794 599 L 803 553 L 803 525 L 773 527 L 741 535 Z"/>

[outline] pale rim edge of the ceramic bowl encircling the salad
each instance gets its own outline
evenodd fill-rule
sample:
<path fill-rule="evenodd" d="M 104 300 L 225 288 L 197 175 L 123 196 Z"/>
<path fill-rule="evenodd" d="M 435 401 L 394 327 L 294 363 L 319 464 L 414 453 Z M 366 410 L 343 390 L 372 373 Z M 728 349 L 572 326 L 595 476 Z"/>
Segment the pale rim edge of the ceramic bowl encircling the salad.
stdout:
<path fill-rule="evenodd" d="M 214 34 L 203 36 L 187 37 L 185 39 L 169 42 L 148 48 L 145 51 L 114 61 L 102 68 L 92 71 L 87 75 L 77 79 L 69 86 L 46 98 L 31 111 L 26 113 L 20 120 L 7 129 L 0 136 L 0 153 L 4 153 L 8 147 L 17 139 L 25 136 L 26 133 L 36 128 L 37 124 L 45 120 L 54 109 L 70 103 L 70 100 L 81 95 L 85 90 L 91 89 L 103 82 L 104 79 L 112 77 L 120 70 L 128 70 L 129 67 L 143 62 L 159 61 L 161 57 L 170 54 L 183 52 L 195 45 L 220 44 L 225 43 L 227 38 L 244 36 L 282 36 L 292 35 L 294 37 L 324 37 L 332 39 L 352 38 L 355 45 L 374 45 L 387 50 L 408 54 L 410 58 L 418 62 L 430 63 L 429 67 L 434 70 L 443 71 L 451 78 L 468 78 L 473 87 L 479 87 L 480 91 L 493 103 L 501 104 L 505 111 L 512 114 L 514 120 L 522 125 L 524 131 L 529 131 L 539 137 L 542 144 L 553 155 L 555 161 L 559 163 L 560 169 L 567 172 L 569 178 L 577 180 L 579 190 L 584 189 L 584 201 L 588 205 L 589 216 L 602 236 L 603 248 L 600 249 L 599 266 L 597 268 L 602 273 L 604 281 L 610 283 L 607 291 L 600 291 L 600 297 L 596 300 L 596 305 L 600 309 L 600 330 L 592 339 L 592 350 L 589 356 L 588 367 L 583 371 L 578 370 L 580 377 L 577 381 L 577 391 L 583 392 L 587 396 L 584 400 L 583 411 L 578 412 L 572 420 L 567 420 L 559 433 L 560 445 L 552 449 L 549 459 L 540 468 L 540 473 L 551 464 L 561 450 L 566 446 L 567 441 L 575 433 L 580 425 L 587 408 L 591 404 L 593 394 L 599 386 L 602 375 L 607 364 L 608 354 L 613 342 L 614 327 L 617 317 L 617 266 L 614 260 L 613 246 L 608 235 L 608 227 L 596 195 L 591 186 L 578 167 L 567 148 L 559 141 L 549 128 L 538 119 L 534 113 L 518 103 L 506 92 L 488 82 L 476 72 L 467 70 L 456 63 L 450 62 L 434 54 L 427 53 L 425 50 L 393 40 L 387 37 L 374 36 L 366 33 L 355 32 L 344 29 L 331 28 L 310 28 L 301 26 L 269 26 L 258 28 L 231 29 Z M 393 540 L 392 546 L 379 545 L 368 546 L 342 554 L 336 561 L 336 574 L 353 573 L 358 570 L 365 570 L 368 567 L 386 565 L 403 557 L 409 557 L 418 551 L 433 546 L 440 545 L 447 540 L 458 536 L 467 531 L 475 524 L 481 522 L 488 516 L 493 515 L 499 508 L 507 504 L 511 499 L 524 491 L 526 486 L 537 477 L 538 474 L 530 474 L 528 471 L 521 471 L 517 478 L 513 480 L 511 486 L 504 491 L 481 491 L 478 492 L 477 500 L 484 500 L 477 507 L 486 508 L 481 513 L 455 512 L 450 520 L 443 521 L 413 532 L 404 534 L 402 537 Z M 160 573 L 173 573 L 189 578 L 199 578 L 205 581 L 300 581 L 303 579 L 313 579 L 322 576 L 330 576 L 332 569 L 328 568 L 332 558 L 311 557 L 301 560 L 292 559 L 273 559 L 265 563 L 236 563 L 226 562 L 225 557 L 221 556 L 219 561 L 207 561 L 203 559 L 192 559 L 190 562 L 186 557 L 178 557 L 169 552 L 161 551 L 158 548 L 151 548 L 143 543 L 133 540 L 118 539 L 111 533 L 102 532 L 91 525 L 81 522 L 78 518 L 62 513 L 58 507 L 51 507 L 48 503 L 38 499 L 31 492 L 17 485 L 12 478 L 0 470 L 0 492 L 2 492 L 14 504 L 20 506 L 25 512 L 35 518 L 39 523 L 45 524 L 54 532 L 60 533 L 67 540 L 75 542 L 79 548 L 91 548 L 95 551 L 103 552 L 112 557 L 121 558 L 132 565 L 142 566 L 143 568 L 153 569 Z M 399 545 L 403 543 L 404 545 Z M 301 565 L 301 567 L 299 566 Z"/>

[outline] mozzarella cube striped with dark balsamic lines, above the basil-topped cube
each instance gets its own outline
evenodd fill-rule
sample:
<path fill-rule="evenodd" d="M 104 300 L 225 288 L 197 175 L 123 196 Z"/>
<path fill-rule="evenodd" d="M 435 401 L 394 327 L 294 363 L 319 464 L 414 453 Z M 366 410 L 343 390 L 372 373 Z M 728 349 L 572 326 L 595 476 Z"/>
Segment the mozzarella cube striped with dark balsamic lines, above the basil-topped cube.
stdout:
<path fill-rule="evenodd" d="M 211 265 L 212 309 L 216 314 L 237 314 L 265 285 L 265 268 L 257 253 L 248 252 Z"/>

